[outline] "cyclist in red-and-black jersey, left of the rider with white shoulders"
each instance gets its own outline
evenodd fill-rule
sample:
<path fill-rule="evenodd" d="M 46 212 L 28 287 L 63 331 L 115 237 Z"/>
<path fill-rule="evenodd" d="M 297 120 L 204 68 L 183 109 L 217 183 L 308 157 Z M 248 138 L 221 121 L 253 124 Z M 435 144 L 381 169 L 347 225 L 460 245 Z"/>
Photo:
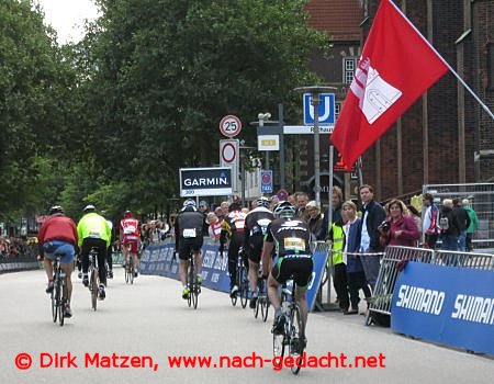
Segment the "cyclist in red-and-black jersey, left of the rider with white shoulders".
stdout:
<path fill-rule="evenodd" d="M 240 203 L 233 202 L 228 207 L 228 215 L 223 218 L 222 231 L 220 234 L 220 253 L 223 255 L 226 240 L 229 238 L 228 247 L 228 273 L 229 273 L 229 296 L 235 297 L 238 292 L 237 281 L 237 258 L 240 248 L 244 246 L 244 227 L 246 214 L 242 212 Z M 244 260 L 248 268 L 247 260 Z"/>

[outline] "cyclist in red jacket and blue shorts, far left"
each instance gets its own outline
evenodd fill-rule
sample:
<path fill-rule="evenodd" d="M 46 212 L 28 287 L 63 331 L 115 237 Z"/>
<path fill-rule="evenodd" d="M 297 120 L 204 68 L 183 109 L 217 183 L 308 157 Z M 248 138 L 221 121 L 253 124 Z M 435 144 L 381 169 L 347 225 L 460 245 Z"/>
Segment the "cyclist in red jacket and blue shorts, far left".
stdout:
<path fill-rule="evenodd" d="M 54 205 L 49 208 L 49 217 L 40 228 L 37 241 L 40 255 L 44 255 L 43 264 L 48 276 L 46 293 L 52 293 L 54 287 L 52 260 L 55 253 L 64 253 L 60 259 L 61 270 L 67 276 L 67 304 L 64 316 L 67 318 L 71 317 L 70 297 L 72 295 L 72 281 L 70 275 L 74 271 L 74 256 L 77 246 L 76 223 L 64 215 L 61 206 Z"/>

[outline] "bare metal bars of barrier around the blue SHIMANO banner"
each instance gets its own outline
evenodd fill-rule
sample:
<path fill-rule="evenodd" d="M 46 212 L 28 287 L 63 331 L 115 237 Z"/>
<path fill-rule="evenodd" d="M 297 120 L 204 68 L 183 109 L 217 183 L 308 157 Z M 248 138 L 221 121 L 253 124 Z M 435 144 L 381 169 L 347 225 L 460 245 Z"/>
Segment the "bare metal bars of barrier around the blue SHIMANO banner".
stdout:
<path fill-rule="evenodd" d="M 369 312 L 366 317 L 367 325 L 373 321 L 372 313 L 391 315 L 394 284 L 401 272 L 401 263 L 404 263 L 406 260 L 436 266 L 494 271 L 494 255 L 389 246 L 381 260 L 378 281 L 369 303 Z"/>

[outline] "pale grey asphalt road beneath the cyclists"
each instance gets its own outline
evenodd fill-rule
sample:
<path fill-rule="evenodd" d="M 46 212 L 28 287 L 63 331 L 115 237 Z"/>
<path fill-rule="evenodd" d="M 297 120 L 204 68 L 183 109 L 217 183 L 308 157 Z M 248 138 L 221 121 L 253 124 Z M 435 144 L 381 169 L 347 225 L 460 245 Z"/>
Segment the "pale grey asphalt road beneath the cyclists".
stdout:
<path fill-rule="evenodd" d="M 130 286 L 121 268 L 93 312 L 88 291 L 72 278 L 74 317 L 59 327 L 50 318 L 43 271 L 0 275 L 0 383 L 445 384 L 494 377 L 494 359 L 364 327 L 362 316 L 339 313 L 311 314 L 307 326 L 307 353 L 326 357 L 323 362 L 330 353 L 332 368 L 305 368 L 295 377 L 287 368 L 260 366 L 260 360 L 271 359 L 272 313 L 262 323 L 251 310 L 233 307 L 226 294 L 209 290 L 193 310 L 177 281 L 139 276 Z M 183 355 L 211 357 L 211 368 L 170 366 L 170 358 Z M 126 357 L 145 366 L 122 366 L 132 363 Z M 368 366 L 356 368 L 356 357 Z M 256 368 L 220 368 L 228 359 Z M 16 368 L 30 361 L 29 369 Z"/>

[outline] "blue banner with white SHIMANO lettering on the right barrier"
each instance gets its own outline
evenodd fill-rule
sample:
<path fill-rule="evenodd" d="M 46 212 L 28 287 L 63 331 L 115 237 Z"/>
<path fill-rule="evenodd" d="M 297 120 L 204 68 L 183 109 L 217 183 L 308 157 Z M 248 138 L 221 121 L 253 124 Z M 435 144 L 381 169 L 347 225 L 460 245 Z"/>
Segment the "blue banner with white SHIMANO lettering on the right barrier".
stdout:
<path fill-rule="evenodd" d="M 408 262 L 394 289 L 391 328 L 494 355 L 494 272 Z"/>

